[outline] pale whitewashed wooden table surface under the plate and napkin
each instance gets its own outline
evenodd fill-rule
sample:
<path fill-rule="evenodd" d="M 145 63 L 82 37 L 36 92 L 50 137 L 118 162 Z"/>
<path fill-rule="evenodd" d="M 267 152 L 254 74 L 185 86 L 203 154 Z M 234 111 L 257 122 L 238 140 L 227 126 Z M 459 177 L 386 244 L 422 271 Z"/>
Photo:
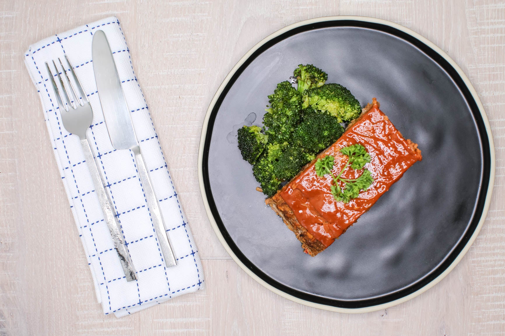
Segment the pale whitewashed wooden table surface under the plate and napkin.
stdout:
<path fill-rule="evenodd" d="M 23 63 L 29 44 L 112 15 L 122 23 L 207 282 L 205 291 L 121 319 L 103 315 L 84 251 L 73 248 L 81 242 Z M 276 30 L 330 15 L 390 20 L 446 51 L 477 90 L 496 149 L 491 208 L 468 254 L 426 293 L 366 314 L 302 306 L 252 280 L 218 241 L 198 188 L 201 125 L 232 66 Z M 504 50 L 499 0 L 1 0 L 0 334 L 504 334 Z"/>

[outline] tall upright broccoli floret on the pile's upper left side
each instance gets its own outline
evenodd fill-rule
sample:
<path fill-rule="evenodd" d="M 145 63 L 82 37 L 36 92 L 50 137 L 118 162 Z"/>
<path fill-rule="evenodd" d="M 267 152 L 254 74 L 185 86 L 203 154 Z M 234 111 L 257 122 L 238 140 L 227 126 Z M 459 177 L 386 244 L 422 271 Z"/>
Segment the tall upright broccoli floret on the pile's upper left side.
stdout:
<path fill-rule="evenodd" d="M 296 124 L 300 121 L 301 95 L 288 81 L 277 84 L 274 93 L 268 96 L 270 108 L 263 117 L 268 127 L 269 142 L 288 142 Z"/>

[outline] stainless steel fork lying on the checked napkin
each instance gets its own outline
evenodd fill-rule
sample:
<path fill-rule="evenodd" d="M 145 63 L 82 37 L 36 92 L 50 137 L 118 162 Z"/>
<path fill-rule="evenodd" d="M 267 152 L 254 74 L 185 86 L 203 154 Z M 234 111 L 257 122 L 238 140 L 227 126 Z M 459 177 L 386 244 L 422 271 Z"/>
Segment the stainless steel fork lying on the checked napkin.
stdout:
<path fill-rule="evenodd" d="M 114 243 L 114 248 L 119 257 L 119 261 L 121 263 L 121 267 L 123 268 L 123 272 L 126 276 L 126 281 L 136 280 L 137 277 L 135 275 L 135 270 L 133 268 L 133 264 L 130 260 L 128 252 L 126 250 L 125 245 L 123 244 L 123 239 L 119 232 L 119 223 L 117 217 L 114 216 L 112 212 L 110 195 L 105 191 L 104 184 L 102 182 L 102 178 L 100 177 L 100 173 L 98 172 L 98 168 L 96 167 L 96 163 L 93 158 L 93 154 L 91 152 L 91 148 L 89 147 L 88 140 L 86 139 L 86 130 L 90 127 L 91 122 L 93 121 L 93 110 L 91 109 L 91 104 L 89 104 L 89 100 L 82 89 L 82 85 L 77 78 L 74 68 L 72 64 L 70 64 L 70 60 L 67 55 L 65 55 L 65 60 L 68 63 L 68 69 L 72 74 L 72 77 L 75 81 L 75 86 L 79 90 L 81 95 L 81 99 L 74 88 L 74 85 L 70 81 L 66 67 L 63 65 L 61 58 L 58 58 L 62 72 L 66 79 L 66 83 L 68 87 L 70 87 L 70 91 L 68 87 L 64 84 L 62 76 L 60 75 L 60 71 L 58 70 L 58 66 L 56 62 L 53 60 L 53 65 L 56 69 L 56 76 L 58 77 L 58 81 L 60 82 L 60 86 L 62 87 L 63 95 L 65 96 L 65 100 L 67 104 L 63 103 L 62 96 L 60 94 L 60 90 L 55 82 L 55 75 L 53 75 L 51 68 L 49 68 L 49 64 L 45 62 L 45 67 L 47 69 L 47 74 L 51 79 L 51 84 L 53 85 L 53 89 L 55 91 L 56 100 L 58 101 L 58 106 L 60 108 L 60 113 L 62 117 L 63 126 L 65 129 L 79 137 L 81 141 L 82 151 L 84 152 L 84 159 L 86 160 L 89 172 L 91 173 L 91 179 L 93 181 L 94 189 L 96 195 L 98 196 L 98 200 L 100 201 L 100 206 L 102 206 L 102 210 L 104 212 L 105 220 L 107 222 L 107 227 L 109 228 L 109 232 L 112 236 L 112 241 Z"/>

